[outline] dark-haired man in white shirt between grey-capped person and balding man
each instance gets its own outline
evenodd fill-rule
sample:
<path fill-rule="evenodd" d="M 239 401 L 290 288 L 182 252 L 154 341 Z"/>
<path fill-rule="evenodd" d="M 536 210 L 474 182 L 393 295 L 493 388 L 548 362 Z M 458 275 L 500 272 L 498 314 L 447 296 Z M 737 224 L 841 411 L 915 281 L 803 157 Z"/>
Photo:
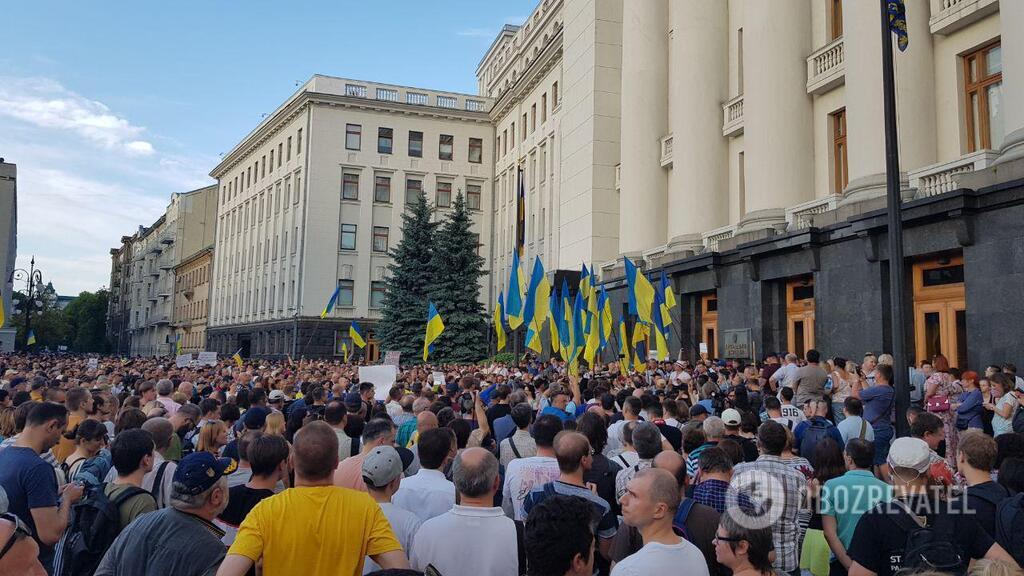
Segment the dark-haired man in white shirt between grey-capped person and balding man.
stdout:
<path fill-rule="evenodd" d="M 420 455 L 420 471 L 407 478 L 392 501 L 398 507 L 413 511 L 427 521 L 452 509 L 455 505 L 455 485 L 444 478 L 444 464 L 458 450 L 451 428 L 433 428 L 420 435 L 416 445 Z"/>

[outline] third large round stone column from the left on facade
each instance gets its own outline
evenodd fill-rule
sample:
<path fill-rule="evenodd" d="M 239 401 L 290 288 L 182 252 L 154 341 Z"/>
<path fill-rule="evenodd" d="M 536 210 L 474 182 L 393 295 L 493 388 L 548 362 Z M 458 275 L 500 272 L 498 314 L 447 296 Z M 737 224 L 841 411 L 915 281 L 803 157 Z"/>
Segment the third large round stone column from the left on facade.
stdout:
<path fill-rule="evenodd" d="M 809 0 L 743 3 L 743 148 L 746 214 L 739 232 L 785 222 L 814 198 Z"/>

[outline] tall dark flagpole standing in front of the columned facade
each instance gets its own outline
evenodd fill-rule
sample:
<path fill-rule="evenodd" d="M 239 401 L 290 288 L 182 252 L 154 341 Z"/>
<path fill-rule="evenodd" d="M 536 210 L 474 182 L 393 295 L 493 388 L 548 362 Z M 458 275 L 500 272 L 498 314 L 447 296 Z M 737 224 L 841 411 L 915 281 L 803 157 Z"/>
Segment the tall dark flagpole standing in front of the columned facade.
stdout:
<path fill-rule="evenodd" d="M 886 132 L 886 197 L 889 210 L 889 300 L 892 311 L 893 382 L 896 388 L 896 434 L 906 436 L 910 407 L 910 379 L 906 365 L 903 310 L 903 219 L 899 181 L 899 139 L 896 132 L 896 88 L 893 74 L 892 31 L 887 0 L 879 0 L 882 18 L 882 91 Z M 920 8 L 920 7 L 919 7 Z M 919 39 L 919 42 L 922 41 Z"/>

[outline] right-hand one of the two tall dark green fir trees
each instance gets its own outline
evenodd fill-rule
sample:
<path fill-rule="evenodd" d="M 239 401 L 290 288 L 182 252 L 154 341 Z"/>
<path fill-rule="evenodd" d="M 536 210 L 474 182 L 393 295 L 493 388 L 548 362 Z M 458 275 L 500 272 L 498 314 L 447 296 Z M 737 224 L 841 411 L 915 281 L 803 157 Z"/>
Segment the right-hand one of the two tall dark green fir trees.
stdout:
<path fill-rule="evenodd" d="M 477 362 L 487 353 L 479 283 L 484 259 L 477 253 L 480 240 L 472 224 L 460 192 L 435 237 L 430 264 L 430 300 L 444 321 L 444 333 L 434 342 L 433 357 L 439 362 Z"/>

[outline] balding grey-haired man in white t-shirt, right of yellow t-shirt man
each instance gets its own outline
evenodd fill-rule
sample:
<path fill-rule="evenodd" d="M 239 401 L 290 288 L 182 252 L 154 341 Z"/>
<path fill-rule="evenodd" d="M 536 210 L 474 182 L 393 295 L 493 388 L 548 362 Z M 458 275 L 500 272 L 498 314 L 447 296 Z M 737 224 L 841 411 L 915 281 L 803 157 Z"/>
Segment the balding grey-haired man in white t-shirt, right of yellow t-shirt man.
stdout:
<path fill-rule="evenodd" d="M 498 458 L 483 448 L 467 448 L 456 457 L 452 475 L 460 503 L 423 523 L 413 541 L 410 565 L 420 571 L 433 566 L 440 574 L 522 574 L 515 523 L 493 505 L 500 482 Z"/>

